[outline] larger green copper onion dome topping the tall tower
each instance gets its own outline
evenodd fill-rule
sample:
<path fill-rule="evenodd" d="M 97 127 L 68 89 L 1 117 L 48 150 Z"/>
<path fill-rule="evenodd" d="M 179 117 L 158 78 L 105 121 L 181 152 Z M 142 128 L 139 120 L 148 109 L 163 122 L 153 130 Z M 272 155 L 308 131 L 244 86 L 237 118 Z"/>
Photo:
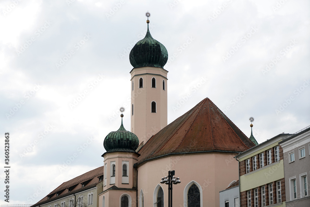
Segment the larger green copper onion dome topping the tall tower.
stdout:
<path fill-rule="evenodd" d="M 131 49 L 129 61 L 134 68 L 146 66 L 163 68 L 168 61 L 168 52 L 162 43 L 153 39 L 148 29 L 145 37 Z"/>

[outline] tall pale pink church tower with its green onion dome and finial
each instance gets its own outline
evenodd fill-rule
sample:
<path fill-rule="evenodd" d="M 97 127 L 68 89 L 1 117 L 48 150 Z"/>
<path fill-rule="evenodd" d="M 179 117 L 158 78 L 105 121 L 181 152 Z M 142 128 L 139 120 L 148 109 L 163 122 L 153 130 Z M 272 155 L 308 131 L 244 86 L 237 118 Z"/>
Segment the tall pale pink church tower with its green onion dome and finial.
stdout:
<path fill-rule="evenodd" d="M 146 13 L 149 17 L 150 13 Z M 149 20 L 146 21 L 149 24 Z M 149 29 L 131 49 L 131 132 L 145 144 L 167 126 L 167 73 L 163 67 L 168 52 L 155 40 Z"/>

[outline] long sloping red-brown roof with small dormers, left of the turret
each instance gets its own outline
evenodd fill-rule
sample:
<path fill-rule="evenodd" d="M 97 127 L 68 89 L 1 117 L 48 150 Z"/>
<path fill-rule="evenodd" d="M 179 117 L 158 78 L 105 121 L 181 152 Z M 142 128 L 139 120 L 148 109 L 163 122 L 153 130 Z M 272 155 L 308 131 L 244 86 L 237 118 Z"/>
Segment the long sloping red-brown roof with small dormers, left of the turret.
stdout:
<path fill-rule="evenodd" d="M 99 182 L 102 182 L 103 180 L 99 181 L 99 176 L 103 175 L 103 168 L 99 167 L 96 169 L 93 169 L 91 171 L 88 171 L 87 173 L 84 173 L 76 178 L 73 178 L 67 182 L 62 183 L 60 186 L 58 186 L 55 190 L 51 191 L 47 196 L 45 196 L 42 200 L 40 200 L 38 203 L 34 204 L 33 206 L 37 206 L 39 204 L 43 204 L 46 201 L 50 202 L 51 200 L 57 200 L 63 196 L 72 194 L 73 192 L 81 191 L 88 189 L 90 187 L 95 187 Z M 82 187 L 81 183 L 85 182 L 86 184 L 84 187 Z M 70 189 L 69 193 L 69 187 L 72 187 Z M 58 196 L 56 196 L 56 193 L 59 193 Z M 49 199 L 47 197 L 50 196 Z"/>

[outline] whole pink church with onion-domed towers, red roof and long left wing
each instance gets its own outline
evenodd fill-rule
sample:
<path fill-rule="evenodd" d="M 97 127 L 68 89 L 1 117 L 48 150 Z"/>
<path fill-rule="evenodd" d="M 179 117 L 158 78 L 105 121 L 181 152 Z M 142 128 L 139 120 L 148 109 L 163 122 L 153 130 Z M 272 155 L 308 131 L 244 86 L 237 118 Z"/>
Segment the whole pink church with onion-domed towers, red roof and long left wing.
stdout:
<path fill-rule="evenodd" d="M 125 115 L 131 128 L 124 128 L 122 114 L 119 129 L 102 140 L 102 167 L 62 183 L 33 207 L 168 206 L 168 186 L 161 181 L 172 170 L 178 180 L 173 206 L 219 206 L 219 191 L 239 180 L 233 157 L 255 146 L 255 138 L 209 98 L 167 124 L 168 52 L 149 29 L 129 60 L 131 109 Z"/>

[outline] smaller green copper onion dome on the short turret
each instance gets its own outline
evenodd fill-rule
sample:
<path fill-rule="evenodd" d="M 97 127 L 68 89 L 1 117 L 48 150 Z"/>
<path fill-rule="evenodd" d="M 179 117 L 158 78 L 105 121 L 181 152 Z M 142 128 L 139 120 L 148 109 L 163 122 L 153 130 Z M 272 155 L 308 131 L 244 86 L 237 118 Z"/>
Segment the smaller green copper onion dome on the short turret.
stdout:
<path fill-rule="evenodd" d="M 103 146 L 107 152 L 135 152 L 139 146 L 139 139 L 134 133 L 126 131 L 123 126 L 122 118 L 121 127 L 115 132 L 108 133 L 108 135 L 104 138 Z"/>

